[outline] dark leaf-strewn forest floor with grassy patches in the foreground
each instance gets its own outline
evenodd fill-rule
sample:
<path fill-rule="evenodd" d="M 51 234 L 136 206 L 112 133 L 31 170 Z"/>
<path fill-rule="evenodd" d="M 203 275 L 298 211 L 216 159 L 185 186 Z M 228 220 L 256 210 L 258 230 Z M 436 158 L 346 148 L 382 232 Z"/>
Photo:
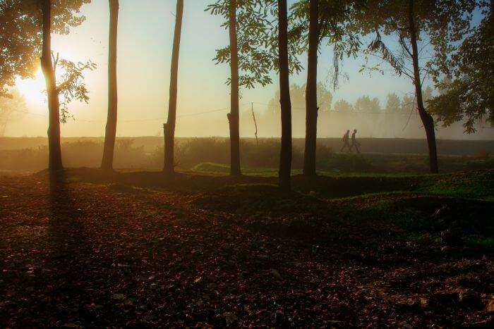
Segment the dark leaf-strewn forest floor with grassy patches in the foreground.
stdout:
<path fill-rule="evenodd" d="M 494 325 L 494 170 L 0 178 L 0 326 Z"/>

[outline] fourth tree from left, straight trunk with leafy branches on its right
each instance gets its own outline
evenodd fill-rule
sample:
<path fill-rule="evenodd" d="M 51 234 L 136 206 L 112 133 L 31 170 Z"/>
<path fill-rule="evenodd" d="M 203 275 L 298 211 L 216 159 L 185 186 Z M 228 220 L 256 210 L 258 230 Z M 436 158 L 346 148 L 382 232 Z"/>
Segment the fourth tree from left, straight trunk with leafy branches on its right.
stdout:
<path fill-rule="evenodd" d="M 212 15 L 222 15 L 222 24 L 229 30 L 230 45 L 217 49 L 216 63 L 229 63 L 231 75 L 227 84 L 231 88 L 231 112 L 228 113 L 231 143 L 231 175 L 239 175 L 239 88 L 253 88 L 255 84 L 270 84 L 270 70 L 278 67 L 278 27 L 271 17 L 276 12 L 275 0 L 218 0 L 207 6 Z M 289 44 L 289 70 L 301 70 L 296 58 L 299 44 Z M 296 50 L 295 50 L 296 49 Z"/>

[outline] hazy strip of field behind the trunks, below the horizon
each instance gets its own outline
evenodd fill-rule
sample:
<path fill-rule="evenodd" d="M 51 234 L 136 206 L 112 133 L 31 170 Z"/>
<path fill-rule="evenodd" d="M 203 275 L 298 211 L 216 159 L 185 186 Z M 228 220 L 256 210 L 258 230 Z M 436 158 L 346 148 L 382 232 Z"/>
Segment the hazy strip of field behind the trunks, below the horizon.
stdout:
<path fill-rule="evenodd" d="M 363 154 L 340 153 L 340 139 L 319 139 L 317 168 L 327 173 L 428 173 L 426 142 L 421 139 L 361 139 Z M 159 137 L 119 138 L 114 168 L 161 170 L 163 140 Z M 98 168 L 102 159 L 101 138 L 62 139 L 64 165 Z M 494 168 L 494 141 L 439 140 L 442 172 Z M 45 138 L 0 138 L 0 170 L 39 171 L 47 168 Z M 228 172 L 229 141 L 225 138 L 179 138 L 175 148 L 179 170 Z M 217 163 L 209 166 L 207 163 Z M 279 163 L 279 139 L 241 140 L 241 164 L 248 173 L 275 173 Z M 294 139 L 292 168 L 303 164 L 303 139 Z M 214 167 L 214 168 L 213 168 Z"/>

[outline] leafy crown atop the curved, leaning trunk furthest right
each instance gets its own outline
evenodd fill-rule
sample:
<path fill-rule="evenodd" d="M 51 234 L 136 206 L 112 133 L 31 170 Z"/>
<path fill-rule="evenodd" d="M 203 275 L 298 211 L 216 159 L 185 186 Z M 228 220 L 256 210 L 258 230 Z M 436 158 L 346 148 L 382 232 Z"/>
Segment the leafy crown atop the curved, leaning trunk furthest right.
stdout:
<path fill-rule="evenodd" d="M 433 71 L 445 70 L 445 60 L 456 48 L 456 44 L 469 32 L 471 13 L 476 8 L 475 0 L 414 0 L 414 23 L 416 37 L 432 54 L 420 47 L 418 54 L 419 70 L 426 77 Z M 377 57 L 389 64 L 397 75 L 406 75 L 414 80 L 411 67 L 412 49 L 409 28 L 409 1 L 368 0 L 366 6 L 356 11 L 356 26 L 363 35 L 374 35 L 365 51 L 365 61 L 361 70 L 387 70 L 380 63 L 370 65 L 369 58 Z M 396 39 L 399 46 L 393 49 L 386 44 L 382 35 Z M 430 45 L 428 45 L 430 43 Z"/>

